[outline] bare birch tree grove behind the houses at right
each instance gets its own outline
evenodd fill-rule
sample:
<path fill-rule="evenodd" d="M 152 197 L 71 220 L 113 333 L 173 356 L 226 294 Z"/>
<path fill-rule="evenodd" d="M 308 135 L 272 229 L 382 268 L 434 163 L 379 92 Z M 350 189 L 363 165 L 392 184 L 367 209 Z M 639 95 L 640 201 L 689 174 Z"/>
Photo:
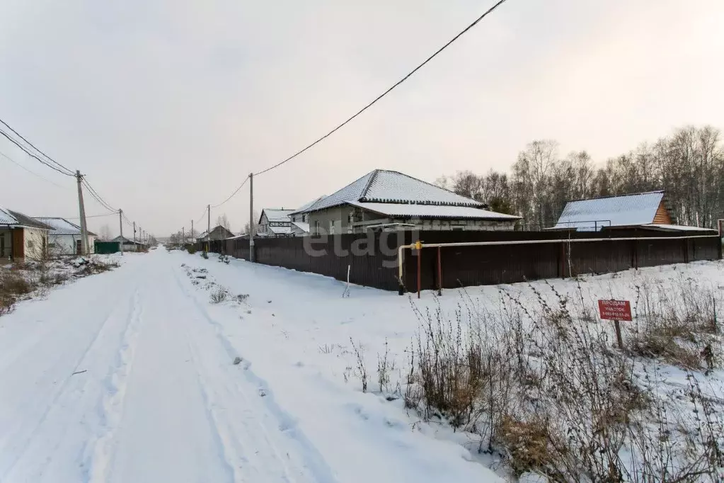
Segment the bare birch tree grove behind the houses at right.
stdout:
<path fill-rule="evenodd" d="M 594 164 L 586 151 L 561 156 L 555 140 L 534 140 L 510 175 L 465 171 L 437 184 L 518 214 L 531 229 L 555 224 L 569 200 L 652 190 L 665 190 L 675 222 L 715 228 L 724 218 L 724 146 L 715 127 L 686 126 Z"/>

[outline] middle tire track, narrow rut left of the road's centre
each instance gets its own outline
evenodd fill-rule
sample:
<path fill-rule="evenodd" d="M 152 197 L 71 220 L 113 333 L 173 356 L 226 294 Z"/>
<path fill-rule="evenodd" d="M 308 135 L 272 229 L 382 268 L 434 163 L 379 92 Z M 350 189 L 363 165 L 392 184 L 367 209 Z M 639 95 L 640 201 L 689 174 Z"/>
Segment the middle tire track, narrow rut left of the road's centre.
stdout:
<path fill-rule="evenodd" d="M 143 321 L 143 305 L 140 303 L 138 289 L 132 297 L 132 314 L 125 332 L 123 333 L 120 348 L 116 356 L 113 369 L 104 378 L 104 394 L 99 405 L 101 406 L 101 424 L 103 434 L 86 450 L 88 474 L 85 481 L 90 483 L 103 483 L 108 479 L 109 468 L 113 462 L 114 436 L 123 415 L 123 403 L 126 395 L 128 375 L 132 369 L 135 355 L 136 341 Z"/>

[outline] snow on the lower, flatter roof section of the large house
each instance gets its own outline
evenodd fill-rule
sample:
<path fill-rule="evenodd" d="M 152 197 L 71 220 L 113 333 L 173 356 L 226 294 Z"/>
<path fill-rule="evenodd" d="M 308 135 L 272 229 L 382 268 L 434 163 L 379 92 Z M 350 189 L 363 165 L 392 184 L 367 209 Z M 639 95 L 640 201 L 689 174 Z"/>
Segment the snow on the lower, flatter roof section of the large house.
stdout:
<path fill-rule="evenodd" d="M 388 217 L 416 217 L 434 219 L 494 219 L 514 221 L 521 219 L 510 214 L 496 213 L 473 206 L 413 205 L 408 203 L 350 203 L 353 206 L 384 214 Z"/>

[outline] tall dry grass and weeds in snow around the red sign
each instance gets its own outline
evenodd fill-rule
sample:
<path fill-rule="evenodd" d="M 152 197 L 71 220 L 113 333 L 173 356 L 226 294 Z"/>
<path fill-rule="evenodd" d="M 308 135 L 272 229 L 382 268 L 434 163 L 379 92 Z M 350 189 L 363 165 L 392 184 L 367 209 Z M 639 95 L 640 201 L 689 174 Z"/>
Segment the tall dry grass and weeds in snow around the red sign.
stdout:
<path fill-rule="evenodd" d="M 468 296 L 454 316 L 413 305 L 421 326 L 410 350 L 406 406 L 478 434 L 480 450 L 500 455 L 513 476 L 724 481 L 724 407 L 702 392 L 696 383 L 702 374 L 689 372 L 682 403 L 660 392 L 660 375 L 640 369 L 660 361 L 689 371 L 705 365 L 704 340 L 720 340 L 713 312 L 704 315 L 710 293 L 669 287 L 674 312 L 650 296 L 645 323 L 627 334 L 622 351 L 610 326 L 592 320 L 582 290 L 578 298 L 550 285 L 545 295 L 536 285 L 529 290 L 536 295 L 529 304 L 501 292 L 503 310 L 494 314 Z M 641 362 L 642 355 L 658 362 Z M 709 358 L 714 364 L 716 356 Z"/>

